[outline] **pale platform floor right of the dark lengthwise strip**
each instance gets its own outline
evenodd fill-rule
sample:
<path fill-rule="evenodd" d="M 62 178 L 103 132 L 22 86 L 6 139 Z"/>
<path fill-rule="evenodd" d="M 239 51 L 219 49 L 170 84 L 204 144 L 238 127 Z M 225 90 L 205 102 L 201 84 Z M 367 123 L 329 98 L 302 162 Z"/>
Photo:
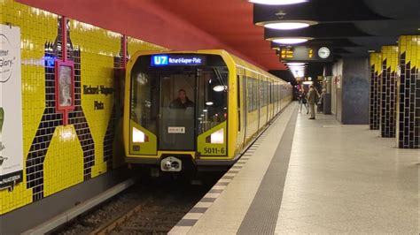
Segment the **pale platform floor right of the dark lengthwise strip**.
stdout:
<path fill-rule="evenodd" d="M 276 233 L 419 233 L 420 150 L 299 115 Z"/>

